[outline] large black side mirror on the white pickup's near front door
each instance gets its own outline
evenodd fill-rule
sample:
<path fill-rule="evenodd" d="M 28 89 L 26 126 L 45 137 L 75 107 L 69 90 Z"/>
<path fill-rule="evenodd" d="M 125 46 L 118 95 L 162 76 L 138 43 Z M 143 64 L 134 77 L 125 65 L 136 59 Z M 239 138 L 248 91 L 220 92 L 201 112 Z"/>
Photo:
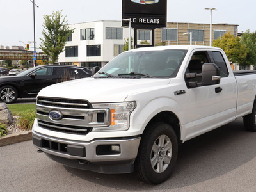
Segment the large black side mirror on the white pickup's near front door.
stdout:
<path fill-rule="evenodd" d="M 202 85 L 220 83 L 220 68 L 215 63 L 204 63 L 202 66 Z"/>

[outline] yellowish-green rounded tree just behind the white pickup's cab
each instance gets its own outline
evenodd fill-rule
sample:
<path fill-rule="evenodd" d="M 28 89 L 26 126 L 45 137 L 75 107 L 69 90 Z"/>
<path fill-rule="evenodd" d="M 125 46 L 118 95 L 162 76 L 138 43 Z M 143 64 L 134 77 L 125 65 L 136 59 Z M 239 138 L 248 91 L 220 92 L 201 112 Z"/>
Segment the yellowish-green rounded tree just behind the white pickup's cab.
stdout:
<path fill-rule="evenodd" d="M 246 65 L 246 56 L 248 48 L 241 42 L 239 36 L 224 34 L 221 39 L 216 39 L 212 44 L 214 47 L 220 47 L 227 54 L 230 63 L 237 63 L 238 65 Z"/>

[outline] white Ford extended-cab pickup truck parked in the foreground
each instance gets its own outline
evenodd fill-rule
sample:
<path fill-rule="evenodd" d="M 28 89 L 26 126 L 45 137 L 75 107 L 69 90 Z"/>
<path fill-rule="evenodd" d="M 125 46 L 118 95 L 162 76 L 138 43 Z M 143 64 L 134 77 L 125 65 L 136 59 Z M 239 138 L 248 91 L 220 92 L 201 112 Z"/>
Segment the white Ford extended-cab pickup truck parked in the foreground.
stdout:
<path fill-rule="evenodd" d="M 93 74 L 38 93 L 33 145 L 66 166 L 159 184 L 185 141 L 241 117 L 256 131 L 256 74 L 222 49 L 132 49 Z"/>

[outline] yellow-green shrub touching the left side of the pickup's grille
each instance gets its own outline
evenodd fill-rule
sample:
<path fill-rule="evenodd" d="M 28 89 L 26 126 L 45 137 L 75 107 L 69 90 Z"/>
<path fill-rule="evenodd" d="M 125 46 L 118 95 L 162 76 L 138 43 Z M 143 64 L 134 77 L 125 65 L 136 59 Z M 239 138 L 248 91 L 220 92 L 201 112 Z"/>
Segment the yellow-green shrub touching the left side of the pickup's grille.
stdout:
<path fill-rule="evenodd" d="M 19 118 L 17 118 L 17 125 L 23 131 L 31 130 L 34 124 L 35 118 L 36 118 L 35 109 L 29 109 L 28 111 L 24 111 L 20 113 Z"/>

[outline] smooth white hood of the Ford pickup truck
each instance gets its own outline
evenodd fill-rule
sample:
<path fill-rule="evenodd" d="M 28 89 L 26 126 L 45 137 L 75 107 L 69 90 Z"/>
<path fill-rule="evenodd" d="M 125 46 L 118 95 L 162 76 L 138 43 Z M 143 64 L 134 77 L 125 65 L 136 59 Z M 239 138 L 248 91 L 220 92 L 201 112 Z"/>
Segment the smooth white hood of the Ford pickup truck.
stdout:
<path fill-rule="evenodd" d="M 38 96 L 83 99 L 89 102 L 124 102 L 134 95 L 156 86 L 166 86 L 170 79 L 95 79 L 88 77 L 57 83 L 42 89 Z"/>

